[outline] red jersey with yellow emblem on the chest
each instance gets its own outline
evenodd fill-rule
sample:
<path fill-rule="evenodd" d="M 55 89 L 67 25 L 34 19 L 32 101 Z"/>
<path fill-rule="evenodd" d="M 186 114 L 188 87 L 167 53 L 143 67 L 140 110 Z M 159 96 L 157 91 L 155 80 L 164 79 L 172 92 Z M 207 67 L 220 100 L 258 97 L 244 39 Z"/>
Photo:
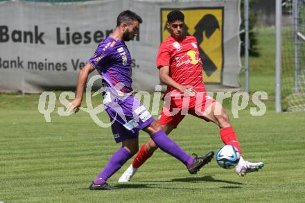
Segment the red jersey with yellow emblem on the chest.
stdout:
<path fill-rule="evenodd" d="M 197 92 L 205 92 L 202 79 L 202 62 L 198 51 L 197 40 L 193 36 L 186 36 L 181 41 L 173 37 L 168 37 L 159 46 L 157 55 L 157 67 L 168 66 L 169 76 L 180 85 L 191 85 Z M 171 91 L 171 95 L 182 92 L 167 87 L 166 94 Z"/>

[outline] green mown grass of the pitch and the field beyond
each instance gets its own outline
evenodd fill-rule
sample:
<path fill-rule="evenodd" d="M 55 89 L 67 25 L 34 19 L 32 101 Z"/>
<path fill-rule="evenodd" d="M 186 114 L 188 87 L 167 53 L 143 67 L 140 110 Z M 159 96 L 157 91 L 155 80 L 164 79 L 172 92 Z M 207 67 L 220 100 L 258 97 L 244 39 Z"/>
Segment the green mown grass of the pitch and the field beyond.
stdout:
<path fill-rule="evenodd" d="M 73 116 L 54 112 L 51 123 L 46 123 L 37 111 L 39 95 L 0 94 L 0 199 L 6 203 L 304 202 L 305 116 L 275 114 L 273 30 L 258 32 L 261 56 L 250 60 L 250 90 L 268 93 L 267 112 L 251 116 L 247 107 L 239 118 L 232 118 L 229 100 L 224 105 L 243 156 L 264 161 L 261 171 L 238 177 L 213 160 L 190 175 L 179 161 L 158 150 L 132 182 L 117 184 L 130 160 L 109 179 L 115 191 L 89 191 L 92 179 L 120 147 L 110 128 L 98 127 L 85 112 Z M 58 98 L 60 92 L 56 94 Z M 96 106 L 101 101 L 96 97 L 93 102 Z M 105 112 L 100 118 L 109 119 Z M 139 137 L 140 144 L 148 140 L 143 132 Z M 223 145 L 216 125 L 193 116 L 186 116 L 171 137 L 186 152 L 199 155 Z"/>

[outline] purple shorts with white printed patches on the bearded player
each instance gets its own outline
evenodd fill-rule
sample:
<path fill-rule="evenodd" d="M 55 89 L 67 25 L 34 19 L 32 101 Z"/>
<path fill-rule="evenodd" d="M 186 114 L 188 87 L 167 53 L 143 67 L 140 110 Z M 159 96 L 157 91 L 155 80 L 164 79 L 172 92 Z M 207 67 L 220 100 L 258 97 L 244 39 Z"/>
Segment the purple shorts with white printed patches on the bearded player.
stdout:
<path fill-rule="evenodd" d="M 138 138 L 139 130 L 155 121 L 146 107 L 134 96 L 128 96 L 120 103 L 104 103 L 104 106 L 112 122 L 112 133 L 116 143 Z"/>

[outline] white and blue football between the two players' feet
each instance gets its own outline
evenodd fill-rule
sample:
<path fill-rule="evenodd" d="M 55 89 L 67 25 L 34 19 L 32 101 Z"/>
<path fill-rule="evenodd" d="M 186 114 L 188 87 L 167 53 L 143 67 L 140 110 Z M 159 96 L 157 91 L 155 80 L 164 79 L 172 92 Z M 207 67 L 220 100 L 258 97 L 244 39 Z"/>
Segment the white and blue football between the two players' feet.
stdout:
<path fill-rule="evenodd" d="M 222 168 L 234 168 L 240 157 L 238 150 L 232 145 L 224 145 L 216 152 L 216 161 Z"/>

